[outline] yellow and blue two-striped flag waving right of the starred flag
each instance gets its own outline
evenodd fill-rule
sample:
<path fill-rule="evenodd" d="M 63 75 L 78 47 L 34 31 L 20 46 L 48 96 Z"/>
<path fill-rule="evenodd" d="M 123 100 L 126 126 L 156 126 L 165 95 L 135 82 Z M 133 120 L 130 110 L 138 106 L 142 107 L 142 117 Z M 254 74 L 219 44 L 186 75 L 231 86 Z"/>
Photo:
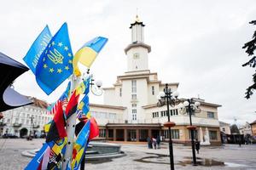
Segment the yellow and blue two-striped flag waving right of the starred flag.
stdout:
<path fill-rule="evenodd" d="M 75 54 L 73 59 L 74 73 L 79 76 L 80 71 L 78 63 L 90 68 L 90 65 L 96 59 L 97 54 L 99 54 L 105 44 L 108 42 L 106 37 L 95 37 L 89 42 L 86 42 L 82 48 Z"/>

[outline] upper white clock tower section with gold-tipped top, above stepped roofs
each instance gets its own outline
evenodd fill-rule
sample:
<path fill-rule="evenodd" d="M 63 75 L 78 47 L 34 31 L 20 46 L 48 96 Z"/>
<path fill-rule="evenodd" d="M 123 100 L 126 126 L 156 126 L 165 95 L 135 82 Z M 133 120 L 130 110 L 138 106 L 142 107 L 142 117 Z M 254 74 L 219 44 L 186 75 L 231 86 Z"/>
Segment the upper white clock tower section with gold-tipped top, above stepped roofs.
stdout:
<path fill-rule="evenodd" d="M 125 48 L 127 55 L 127 71 L 148 71 L 148 53 L 151 47 L 144 43 L 143 22 L 136 16 L 136 20 L 131 24 L 131 44 Z"/>

